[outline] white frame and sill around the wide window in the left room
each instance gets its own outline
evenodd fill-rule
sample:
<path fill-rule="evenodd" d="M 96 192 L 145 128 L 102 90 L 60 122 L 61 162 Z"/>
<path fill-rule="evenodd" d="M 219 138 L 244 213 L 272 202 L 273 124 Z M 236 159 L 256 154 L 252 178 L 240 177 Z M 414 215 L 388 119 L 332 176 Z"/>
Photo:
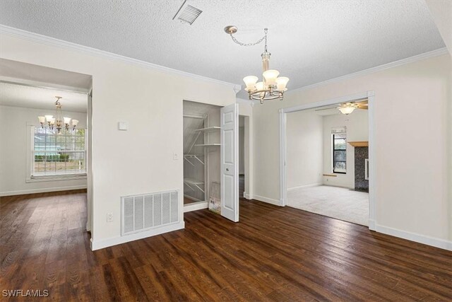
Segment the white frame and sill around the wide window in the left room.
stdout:
<path fill-rule="evenodd" d="M 35 168 L 35 124 L 27 124 L 27 174 L 25 182 L 44 182 L 44 181 L 55 181 L 55 180 L 85 180 L 87 179 L 88 173 L 88 129 L 85 129 L 85 149 L 83 150 L 85 154 L 85 173 L 64 173 L 64 174 L 51 174 L 51 175 L 33 175 Z"/>

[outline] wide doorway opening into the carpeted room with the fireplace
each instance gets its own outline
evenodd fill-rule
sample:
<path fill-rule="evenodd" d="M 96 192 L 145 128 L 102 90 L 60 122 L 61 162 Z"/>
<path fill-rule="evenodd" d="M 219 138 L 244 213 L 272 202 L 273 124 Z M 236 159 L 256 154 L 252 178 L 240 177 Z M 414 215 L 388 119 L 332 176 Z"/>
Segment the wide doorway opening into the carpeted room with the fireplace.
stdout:
<path fill-rule="evenodd" d="M 368 92 L 281 110 L 282 205 L 374 229 L 373 104 Z"/>

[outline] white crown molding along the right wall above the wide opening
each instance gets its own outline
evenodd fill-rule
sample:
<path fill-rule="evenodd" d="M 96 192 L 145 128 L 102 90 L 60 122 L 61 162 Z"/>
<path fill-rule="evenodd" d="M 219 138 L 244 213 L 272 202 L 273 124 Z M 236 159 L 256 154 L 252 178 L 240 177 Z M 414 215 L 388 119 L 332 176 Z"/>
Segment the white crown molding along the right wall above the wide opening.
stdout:
<path fill-rule="evenodd" d="M 295 91 L 297 91 L 297 92 L 299 92 L 299 91 L 307 91 L 309 89 L 320 87 L 320 86 L 325 86 L 325 85 L 328 85 L 328 84 L 331 84 L 331 83 L 337 83 L 337 82 L 344 81 L 344 80 L 347 80 L 347 79 L 357 78 L 358 76 L 365 76 L 367 74 L 373 74 L 374 72 L 382 71 L 384 69 L 389 69 L 389 68 L 393 68 L 393 67 L 400 66 L 400 65 L 410 64 L 410 63 L 413 63 L 413 62 L 417 62 L 417 61 L 420 61 L 420 60 L 423 60 L 423 59 L 429 59 L 429 58 L 432 58 L 432 57 L 439 57 L 439 56 L 441 56 L 443 54 L 448 54 L 448 51 L 447 51 L 446 47 L 439 48 L 438 50 L 432 50 L 431 52 L 424 52 L 423 54 L 417 54 L 417 55 L 412 56 L 412 57 L 408 57 L 408 58 L 405 58 L 405 59 L 400 59 L 398 61 L 390 62 L 390 63 L 383 64 L 383 65 L 380 65 L 380 66 L 375 66 L 375 67 L 372 67 L 372 68 L 369 68 L 369 69 L 364 69 L 362 71 L 357 71 L 357 72 L 354 72 L 352 74 L 345 74 L 344 76 L 338 76 L 337 78 L 334 78 L 334 79 L 329 79 L 329 80 L 326 80 L 326 81 L 313 83 L 313 84 L 308 85 L 308 86 L 303 86 L 303 87 L 300 87 L 300 88 L 296 88 L 296 89 L 287 91 L 287 93 L 293 93 Z"/>

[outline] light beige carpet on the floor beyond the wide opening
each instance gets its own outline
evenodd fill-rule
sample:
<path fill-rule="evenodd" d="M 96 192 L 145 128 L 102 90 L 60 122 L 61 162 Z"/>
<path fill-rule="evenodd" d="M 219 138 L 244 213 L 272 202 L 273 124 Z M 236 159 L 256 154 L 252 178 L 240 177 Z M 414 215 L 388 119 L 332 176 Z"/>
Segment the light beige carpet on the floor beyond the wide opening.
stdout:
<path fill-rule="evenodd" d="M 343 221 L 369 225 L 369 193 L 343 187 L 304 187 L 287 191 L 287 206 Z"/>

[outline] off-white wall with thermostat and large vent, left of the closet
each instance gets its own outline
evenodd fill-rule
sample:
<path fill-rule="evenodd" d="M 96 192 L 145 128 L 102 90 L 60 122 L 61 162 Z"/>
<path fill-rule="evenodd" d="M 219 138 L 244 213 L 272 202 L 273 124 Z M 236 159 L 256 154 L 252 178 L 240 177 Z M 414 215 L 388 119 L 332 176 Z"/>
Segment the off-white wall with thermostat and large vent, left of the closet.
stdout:
<path fill-rule="evenodd" d="M 233 86 L 17 34 L 1 32 L 2 58 L 93 76 L 93 247 L 130 240 L 120 237 L 121 196 L 179 190 L 182 217 L 182 100 L 229 105 Z"/>

